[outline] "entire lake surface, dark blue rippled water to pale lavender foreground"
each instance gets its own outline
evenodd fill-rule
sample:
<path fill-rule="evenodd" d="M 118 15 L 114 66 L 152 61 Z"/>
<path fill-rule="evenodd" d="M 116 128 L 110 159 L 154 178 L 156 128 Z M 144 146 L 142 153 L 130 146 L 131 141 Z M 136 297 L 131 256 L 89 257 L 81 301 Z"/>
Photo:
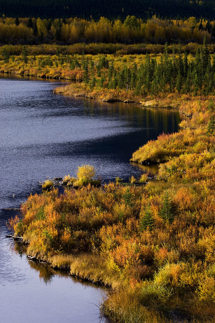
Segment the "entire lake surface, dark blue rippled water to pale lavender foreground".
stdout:
<path fill-rule="evenodd" d="M 53 94 L 58 81 L 0 77 L 0 320 L 99 322 L 101 289 L 29 264 L 5 238 L 6 220 L 47 175 L 75 175 L 92 164 L 106 182 L 140 177 L 132 153 L 178 130 L 177 111 Z M 149 169 L 147 169 L 149 171 Z M 150 170 L 153 172 L 153 169 Z M 30 266 L 31 265 L 31 266 Z"/>

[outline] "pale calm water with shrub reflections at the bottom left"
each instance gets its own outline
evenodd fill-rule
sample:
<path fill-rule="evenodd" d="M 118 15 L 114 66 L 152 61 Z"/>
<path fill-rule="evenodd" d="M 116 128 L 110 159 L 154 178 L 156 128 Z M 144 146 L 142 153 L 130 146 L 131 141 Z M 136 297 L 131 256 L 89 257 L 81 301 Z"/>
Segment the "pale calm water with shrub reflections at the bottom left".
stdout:
<path fill-rule="evenodd" d="M 109 322 L 100 312 L 106 288 L 27 260 L 25 247 L 2 235 L 0 255 L 1 322 Z"/>

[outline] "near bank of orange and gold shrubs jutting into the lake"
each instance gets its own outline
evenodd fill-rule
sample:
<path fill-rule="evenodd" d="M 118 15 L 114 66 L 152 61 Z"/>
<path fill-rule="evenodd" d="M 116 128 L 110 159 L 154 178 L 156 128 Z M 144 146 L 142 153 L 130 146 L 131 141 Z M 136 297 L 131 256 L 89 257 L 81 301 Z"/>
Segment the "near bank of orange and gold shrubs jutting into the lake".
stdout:
<path fill-rule="evenodd" d="M 28 254 L 112 285 L 116 322 L 215 320 L 214 101 L 178 99 L 192 119 L 134 153 L 165 161 L 157 181 L 31 195 L 10 221 Z"/>

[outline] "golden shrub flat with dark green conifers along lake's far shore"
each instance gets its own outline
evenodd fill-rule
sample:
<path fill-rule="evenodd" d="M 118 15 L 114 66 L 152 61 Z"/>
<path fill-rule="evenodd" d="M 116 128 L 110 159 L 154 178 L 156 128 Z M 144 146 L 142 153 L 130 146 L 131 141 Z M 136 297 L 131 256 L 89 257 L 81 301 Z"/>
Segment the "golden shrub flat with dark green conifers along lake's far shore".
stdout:
<path fill-rule="evenodd" d="M 195 56 L 188 55 L 186 50 L 182 54 L 180 43 L 171 47 L 166 43 L 163 53 L 159 55 L 112 55 L 109 58 L 107 55 L 86 56 L 84 51 L 82 56 L 63 55 L 59 49 L 51 57 L 29 56 L 26 46 L 22 47 L 20 58 L 11 56 L 7 46 L 2 49 L 3 70 L 44 77 L 65 74 L 64 78 L 83 80 L 92 91 L 129 90 L 135 97 L 165 92 L 191 93 L 195 96 L 215 92 L 215 54 L 210 55 L 206 36 Z M 23 62 L 28 64 L 23 65 Z"/>

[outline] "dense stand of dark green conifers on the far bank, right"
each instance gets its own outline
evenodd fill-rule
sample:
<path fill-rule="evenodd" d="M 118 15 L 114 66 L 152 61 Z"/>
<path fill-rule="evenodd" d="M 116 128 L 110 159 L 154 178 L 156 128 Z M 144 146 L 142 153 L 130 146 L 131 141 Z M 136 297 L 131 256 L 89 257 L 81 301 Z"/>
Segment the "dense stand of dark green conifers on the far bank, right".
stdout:
<path fill-rule="evenodd" d="M 70 66 L 75 68 L 77 64 L 71 60 Z M 198 47 L 191 61 L 188 61 L 187 52 L 182 56 L 180 44 L 173 46 L 171 54 L 166 44 L 158 59 L 146 54 L 145 62 L 139 68 L 134 63 L 133 68 L 125 64 L 122 70 L 117 70 L 105 56 L 100 57 L 98 65 L 94 66 L 94 62 L 85 59 L 84 54 L 80 66 L 84 69 L 83 81 L 91 89 L 134 90 L 136 96 L 161 92 L 193 93 L 196 96 L 215 91 L 215 55 L 211 61 L 206 36 L 203 46 Z"/>

